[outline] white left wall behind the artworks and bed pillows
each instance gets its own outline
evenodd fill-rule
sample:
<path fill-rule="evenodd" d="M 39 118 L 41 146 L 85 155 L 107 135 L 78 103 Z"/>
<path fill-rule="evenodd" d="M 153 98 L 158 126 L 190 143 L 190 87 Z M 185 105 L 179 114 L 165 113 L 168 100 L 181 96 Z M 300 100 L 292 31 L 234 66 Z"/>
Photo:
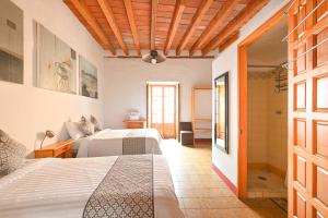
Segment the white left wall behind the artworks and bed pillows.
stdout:
<path fill-rule="evenodd" d="M 63 122 L 91 113 L 103 120 L 103 49 L 60 0 L 13 0 L 24 11 L 24 84 L 0 81 L 1 129 L 27 146 L 39 146 L 40 132 L 49 129 L 63 136 Z M 34 32 L 37 21 L 81 53 L 98 70 L 99 99 L 63 94 L 33 86 Z M 78 72 L 77 72 L 78 75 Z M 51 141 L 56 141 L 54 138 Z M 51 143 L 50 140 L 45 144 Z"/>

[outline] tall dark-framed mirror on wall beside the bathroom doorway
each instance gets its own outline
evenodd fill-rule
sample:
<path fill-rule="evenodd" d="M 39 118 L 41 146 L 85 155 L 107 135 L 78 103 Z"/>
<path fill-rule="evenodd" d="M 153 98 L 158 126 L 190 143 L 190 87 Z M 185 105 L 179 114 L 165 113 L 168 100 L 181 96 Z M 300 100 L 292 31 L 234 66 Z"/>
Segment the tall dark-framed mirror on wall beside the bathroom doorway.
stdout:
<path fill-rule="evenodd" d="M 214 80 L 214 145 L 229 154 L 229 72 Z"/>

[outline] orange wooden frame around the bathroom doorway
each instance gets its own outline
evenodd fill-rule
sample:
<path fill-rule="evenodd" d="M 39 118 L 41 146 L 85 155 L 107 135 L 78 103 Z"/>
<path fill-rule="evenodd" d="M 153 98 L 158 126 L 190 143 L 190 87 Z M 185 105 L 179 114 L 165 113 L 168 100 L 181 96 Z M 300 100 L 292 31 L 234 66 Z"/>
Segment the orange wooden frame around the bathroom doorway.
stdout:
<path fill-rule="evenodd" d="M 273 16 L 238 44 L 238 197 L 247 197 L 247 48 L 270 29 L 274 28 L 284 19 L 283 13 L 290 3 L 280 9 Z"/>

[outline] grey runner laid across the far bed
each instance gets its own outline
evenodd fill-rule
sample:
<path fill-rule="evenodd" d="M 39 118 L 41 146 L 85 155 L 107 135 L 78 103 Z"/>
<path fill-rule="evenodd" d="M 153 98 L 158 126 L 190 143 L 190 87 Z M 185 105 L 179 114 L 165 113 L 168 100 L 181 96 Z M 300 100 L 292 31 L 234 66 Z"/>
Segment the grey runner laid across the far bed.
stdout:
<path fill-rule="evenodd" d="M 142 155 L 145 154 L 145 130 L 131 130 L 122 138 L 124 155 Z"/>

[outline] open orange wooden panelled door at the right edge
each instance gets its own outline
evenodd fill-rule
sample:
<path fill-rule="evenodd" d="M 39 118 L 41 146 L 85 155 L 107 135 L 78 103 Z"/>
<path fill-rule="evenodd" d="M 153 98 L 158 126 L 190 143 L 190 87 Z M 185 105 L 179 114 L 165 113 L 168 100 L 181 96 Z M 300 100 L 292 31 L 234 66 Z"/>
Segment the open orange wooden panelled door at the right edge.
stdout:
<path fill-rule="evenodd" d="M 289 217 L 328 217 L 327 2 L 289 12 Z"/>

